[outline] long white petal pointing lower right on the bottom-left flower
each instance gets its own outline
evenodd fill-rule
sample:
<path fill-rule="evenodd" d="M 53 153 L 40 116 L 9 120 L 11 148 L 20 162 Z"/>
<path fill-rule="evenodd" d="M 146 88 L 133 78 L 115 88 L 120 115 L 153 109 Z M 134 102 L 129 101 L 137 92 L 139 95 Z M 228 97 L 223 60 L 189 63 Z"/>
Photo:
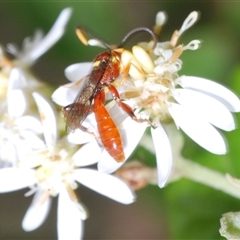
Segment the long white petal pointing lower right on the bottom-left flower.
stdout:
<path fill-rule="evenodd" d="M 135 201 L 132 190 L 120 179 L 92 169 L 75 170 L 75 179 L 82 185 L 123 204 Z"/>

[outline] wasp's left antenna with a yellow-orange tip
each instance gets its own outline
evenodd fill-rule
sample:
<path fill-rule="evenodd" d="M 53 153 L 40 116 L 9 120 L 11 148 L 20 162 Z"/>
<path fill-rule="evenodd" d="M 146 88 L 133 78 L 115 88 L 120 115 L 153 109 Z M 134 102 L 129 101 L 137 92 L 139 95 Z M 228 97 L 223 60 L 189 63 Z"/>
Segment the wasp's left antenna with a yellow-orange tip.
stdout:
<path fill-rule="evenodd" d="M 99 38 L 96 38 L 91 34 L 90 32 L 86 31 L 83 27 L 77 27 L 76 28 L 76 34 L 79 38 L 79 40 L 84 44 L 84 45 L 93 45 L 93 46 L 102 46 L 105 47 L 109 50 L 111 50 L 111 47 L 105 43 L 104 41 L 100 40 Z M 94 44 L 91 44 L 89 40 L 95 40 Z M 98 44 L 96 44 L 96 42 Z"/>

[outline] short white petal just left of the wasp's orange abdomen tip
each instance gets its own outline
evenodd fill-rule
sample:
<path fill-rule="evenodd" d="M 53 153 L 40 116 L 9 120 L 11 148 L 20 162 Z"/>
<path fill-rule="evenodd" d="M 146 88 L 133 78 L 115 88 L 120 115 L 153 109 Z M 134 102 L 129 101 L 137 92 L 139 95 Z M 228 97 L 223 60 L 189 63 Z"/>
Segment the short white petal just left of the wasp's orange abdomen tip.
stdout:
<path fill-rule="evenodd" d="M 72 157 L 74 164 L 79 167 L 92 165 L 98 162 L 102 153 L 97 141 L 83 145 Z"/>

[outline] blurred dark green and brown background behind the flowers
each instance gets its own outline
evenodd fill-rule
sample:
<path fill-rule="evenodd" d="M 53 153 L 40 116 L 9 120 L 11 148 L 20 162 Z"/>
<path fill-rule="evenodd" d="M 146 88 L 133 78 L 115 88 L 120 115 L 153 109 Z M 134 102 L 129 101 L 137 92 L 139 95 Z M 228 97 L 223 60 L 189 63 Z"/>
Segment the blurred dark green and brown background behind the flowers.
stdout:
<path fill-rule="evenodd" d="M 166 11 L 168 22 L 160 37 L 168 40 L 188 14 L 197 10 L 201 18 L 180 42 L 202 40 L 197 51 L 183 54 L 182 74 L 206 77 L 234 89 L 240 94 L 240 2 L 219 1 L 0 1 L 1 44 L 21 46 L 36 28 L 47 32 L 65 7 L 73 15 L 64 37 L 42 56 L 33 72 L 43 81 L 59 85 L 67 82 L 64 69 L 76 62 L 91 61 L 101 50 L 83 46 L 75 27 L 84 26 L 108 43 L 119 43 L 134 27 L 151 28 L 158 11 Z M 133 41 L 143 40 L 145 35 Z M 146 39 L 146 38 L 145 38 Z M 240 123 L 239 114 L 236 122 Z M 224 133 L 229 153 L 215 156 L 185 137 L 184 156 L 204 166 L 240 178 L 240 130 Z M 143 163 L 154 156 L 138 149 Z M 0 239 L 55 239 L 57 199 L 44 224 L 33 232 L 21 229 L 21 221 L 31 202 L 27 190 L 0 195 Z M 136 203 L 118 204 L 80 187 L 78 193 L 88 207 L 84 239 L 223 239 L 218 232 L 221 215 L 239 211 L 240 201 L 222 192 L 183 179 L 164 189 L 148 186 L 136 194 Z"/>

